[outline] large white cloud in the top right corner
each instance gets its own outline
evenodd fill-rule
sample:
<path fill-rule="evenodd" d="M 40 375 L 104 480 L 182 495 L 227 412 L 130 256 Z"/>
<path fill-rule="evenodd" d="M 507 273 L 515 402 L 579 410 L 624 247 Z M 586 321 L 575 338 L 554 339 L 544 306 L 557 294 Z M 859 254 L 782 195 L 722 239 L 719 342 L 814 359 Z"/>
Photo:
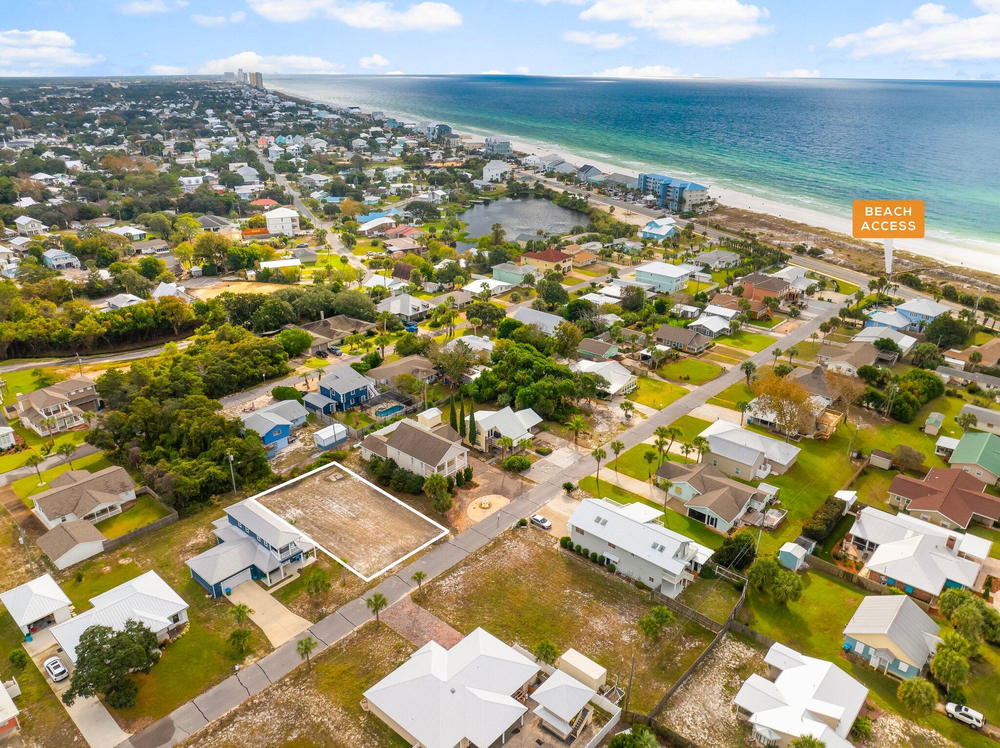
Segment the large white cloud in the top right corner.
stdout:
<path fill-rule="evenodd" d="M 943 5 L 926 3 L 902 21 L 889 21 L 830 41 L 834 49 L 850 50 L 851 57 L 905 55 L 913 60 L 944 63 L 952 60 L 1000 58 L 1000 0 L 973 0 L 982 15 L 960 18 Z"/>

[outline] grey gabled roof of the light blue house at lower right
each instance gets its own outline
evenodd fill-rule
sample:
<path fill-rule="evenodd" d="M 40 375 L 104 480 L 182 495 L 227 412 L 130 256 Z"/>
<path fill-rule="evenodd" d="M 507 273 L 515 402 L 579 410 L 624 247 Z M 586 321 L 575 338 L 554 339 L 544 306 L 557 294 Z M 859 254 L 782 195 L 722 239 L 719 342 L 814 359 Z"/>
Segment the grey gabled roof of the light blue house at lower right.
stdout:
<path fill-rule="evenodd" d="M 888 636 L 900 650 L 894 652 L 897 657 L 923 667 L 937 647 L 939 629 L 934 619 L 907 595 L 867 595 L 844 633 L 854 638 L 866 634 Z"/>

